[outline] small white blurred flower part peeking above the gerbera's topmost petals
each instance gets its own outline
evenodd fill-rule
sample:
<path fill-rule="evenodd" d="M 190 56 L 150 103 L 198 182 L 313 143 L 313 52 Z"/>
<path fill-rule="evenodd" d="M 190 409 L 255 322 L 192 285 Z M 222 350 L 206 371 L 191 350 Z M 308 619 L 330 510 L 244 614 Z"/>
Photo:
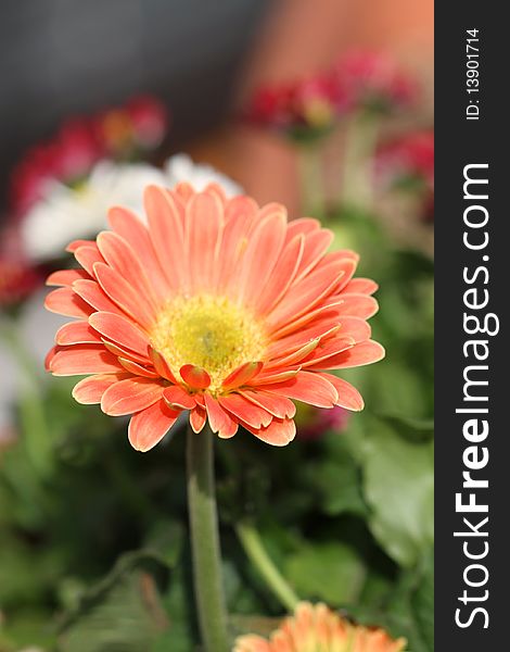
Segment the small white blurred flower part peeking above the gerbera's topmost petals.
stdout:
<path fill-rule="evenodd" d="M 173 188 L 176 184 L 187 181 L 195 190 L 204 190 L 207 184 L 218 184 L 225 190 L 227 197 L 241 195 L 241 186 L 232 181 L 228 176 L 221 174 L 211 165 L 193 163 L 188 154 L 176 154 L 168 159 L 164 165 L 165 184 Z"/>

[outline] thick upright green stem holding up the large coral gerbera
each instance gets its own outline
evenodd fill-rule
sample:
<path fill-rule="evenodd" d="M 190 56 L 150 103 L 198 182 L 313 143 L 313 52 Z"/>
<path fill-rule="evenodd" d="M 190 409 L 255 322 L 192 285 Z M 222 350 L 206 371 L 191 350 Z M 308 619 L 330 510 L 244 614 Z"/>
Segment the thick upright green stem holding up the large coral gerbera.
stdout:
<path fill-rule="evenodd" d="M 221 584 L 218 516 L 214 486 L 213 432 L 188 428 L 188 502 L 193 581 L 199 625 L 206 652 L 228 652 L 227 613 Z"/>

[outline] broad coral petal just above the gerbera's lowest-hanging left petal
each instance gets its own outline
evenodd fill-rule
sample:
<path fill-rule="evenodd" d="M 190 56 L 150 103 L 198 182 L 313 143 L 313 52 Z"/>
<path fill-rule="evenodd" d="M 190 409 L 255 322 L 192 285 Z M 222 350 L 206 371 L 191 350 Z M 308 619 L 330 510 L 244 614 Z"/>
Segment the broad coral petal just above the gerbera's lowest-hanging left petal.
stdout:
<path fill-rule="evenodd" d="M 110 416 L 133 414 L 161 400 L 163 385 L 150 378 L 126 378 L 112 385 L 101 399 L 101 410 Z"/>

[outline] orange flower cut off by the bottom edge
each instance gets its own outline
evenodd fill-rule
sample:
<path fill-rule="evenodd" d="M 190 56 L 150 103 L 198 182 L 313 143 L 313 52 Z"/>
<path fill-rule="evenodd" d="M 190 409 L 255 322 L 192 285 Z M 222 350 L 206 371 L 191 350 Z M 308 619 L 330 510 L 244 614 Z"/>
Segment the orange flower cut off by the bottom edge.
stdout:
<path fill-rule="evenodd" d="M 269 640 L 242 636 L 234 652 L 401 652 L 406 640 L 394 640 L 384 629 L 352 625 L 326 604 L 299 602 Z"/>

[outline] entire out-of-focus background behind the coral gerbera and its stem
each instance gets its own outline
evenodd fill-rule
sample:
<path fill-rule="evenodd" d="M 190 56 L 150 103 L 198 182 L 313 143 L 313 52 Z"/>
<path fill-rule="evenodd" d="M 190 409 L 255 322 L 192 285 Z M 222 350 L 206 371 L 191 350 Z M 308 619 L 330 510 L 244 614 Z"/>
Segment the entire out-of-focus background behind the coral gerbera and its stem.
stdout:
<path fill-rule="evenodd" d="M 387 350 L 362 414 L 218 450 L 237 626 L 282 614 L 250 518 L 302 597 L 432 650 L 432 1 L 4 0 L 0 76 L 0 651 L 195 649 L 182 437 L 135 453 L 42 371 L 65 244 L 191 160 L 358 251 Z"/>

